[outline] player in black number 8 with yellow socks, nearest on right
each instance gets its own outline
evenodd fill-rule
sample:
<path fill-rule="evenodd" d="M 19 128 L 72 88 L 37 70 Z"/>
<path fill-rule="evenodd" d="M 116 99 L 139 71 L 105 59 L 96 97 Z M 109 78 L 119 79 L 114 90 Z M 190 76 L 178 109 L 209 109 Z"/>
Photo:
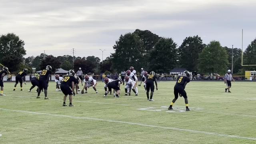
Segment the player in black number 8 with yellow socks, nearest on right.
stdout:
<path fill-rule="evenodd" d="M 186 94 L 186 91 L 184 90 L 186 84 L 190 82 L 189 76 L 190 73 L 188 71 L 184 71 L 183 75 L 177 78 L 177 82 L 174 86 L 174 99 L 172 100 L 168 110 L 173 110 L 172 106 L 174 102 L 178 99 L 178 94 L 180 94 L 180 96 L 183 96 L 183 98 L 185 99 L 186 111 L 190 111 L 190 109 L 188 108 L 188 96 Z"/>

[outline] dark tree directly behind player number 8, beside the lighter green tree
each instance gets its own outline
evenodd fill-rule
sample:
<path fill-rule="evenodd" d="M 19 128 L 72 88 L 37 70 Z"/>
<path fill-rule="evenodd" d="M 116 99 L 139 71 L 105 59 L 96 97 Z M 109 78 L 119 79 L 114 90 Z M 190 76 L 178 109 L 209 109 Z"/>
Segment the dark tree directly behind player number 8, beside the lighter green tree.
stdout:
<path fill-rule="evenodd" d="M 186 37 L 178 48 L 179 67 L 189 71 L 198 71 L 198 55 L 202 52 L 205 44 L 199 36 Z"/>

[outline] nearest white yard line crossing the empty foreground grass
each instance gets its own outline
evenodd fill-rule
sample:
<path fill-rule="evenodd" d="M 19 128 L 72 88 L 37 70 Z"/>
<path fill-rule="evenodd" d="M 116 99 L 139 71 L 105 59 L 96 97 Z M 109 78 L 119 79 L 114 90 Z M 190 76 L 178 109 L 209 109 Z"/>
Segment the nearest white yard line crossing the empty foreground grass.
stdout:
<path fill-rule="evenodd" d="M 230 135 L 230 134 L 219 134 L 219 133 L 215 133 L 215 132 L 204 132 L 204 131 L 190 130 L 190 129 L 183 129 L 183 128 L 155 126 L 155 125 L 150 125 L 150 124 L 124 122 L 124 121 L 118 121 L 118 120 L 106 120 L 106 119 L 101 119 L 101 118 L 88 118 L 88 117 L 67 116 L 67 115 L 59 115 L 59 114 L 47 114 L 47 113 L 30 112 L 30 111 L 23 111 L 23 110 L 10 110 L 10 109 L 5 109 L 5 108 L 0 108 L 0 110 L 6 110 L 6 111 L 12 111 L 12 112 L 22 112 L 22 113 L 36 114 L 36 115 L 58 116 L 58 117 L 65 117 L 65 118 L 72 118 L 72 119 L 84 119 L 84 120 L 97 120 L 97 121 L 103 121 L 103 122 L 114 122 L 114 123 L 121 123 L 121 124 L 145 126 L 145 127 L 151 127 L 151 128 L 162 128 L 162 129 L 169 129 L 169 130 L 178 130 L 178 131 L 183 131 L 183 132 L 201 133 L 201 134 L 220 136 L 220 137 L 239 138 L 239 139 L 244 139 L 244 140 L 256 140 L 256 138 L 236 136 L 236 135 Z"/>

